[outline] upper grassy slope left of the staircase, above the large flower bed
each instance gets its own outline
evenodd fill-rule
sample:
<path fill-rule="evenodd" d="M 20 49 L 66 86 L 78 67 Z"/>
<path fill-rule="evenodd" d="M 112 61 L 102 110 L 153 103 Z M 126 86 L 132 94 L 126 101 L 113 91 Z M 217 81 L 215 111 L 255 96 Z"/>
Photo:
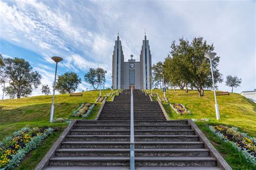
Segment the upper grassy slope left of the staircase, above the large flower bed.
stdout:
<path fill-rule="evenodd" d="M 102 90 L 102 95 L 110 92 L 111 90 Z M 74 97 L 69 94 L 56 95 L 54 117 L 69 118 L 81 103 L 95 103 L 98 96 L 99 91 L 87 91 L 83 96 Z M 52 95 L 0 100 L 0 140 L 24 126 L 66 126 L 49 123 L 51 103 Z M 93 109 L 94 112 L 99 110 L 100 104 Z"/>

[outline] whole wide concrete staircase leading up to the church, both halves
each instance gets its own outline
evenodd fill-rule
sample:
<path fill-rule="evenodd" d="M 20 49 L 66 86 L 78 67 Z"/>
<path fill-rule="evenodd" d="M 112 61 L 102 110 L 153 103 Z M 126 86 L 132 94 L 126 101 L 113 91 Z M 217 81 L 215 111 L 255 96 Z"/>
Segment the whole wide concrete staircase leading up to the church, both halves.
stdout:
<path fill-rule="evenodd" d="M 73 121 L 36 169 L 129 169 L 129 92 L 106 102 L 97 121 Z M 187 120 L 166 121 L 158 102 L 133 97 L 136 169 L 219 169 Z"/>

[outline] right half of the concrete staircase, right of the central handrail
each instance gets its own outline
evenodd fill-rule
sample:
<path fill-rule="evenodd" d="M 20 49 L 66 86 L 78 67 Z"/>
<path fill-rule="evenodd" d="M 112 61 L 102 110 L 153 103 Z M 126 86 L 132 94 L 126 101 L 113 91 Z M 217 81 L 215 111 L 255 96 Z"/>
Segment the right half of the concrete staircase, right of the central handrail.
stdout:
<path fill-rule="evenodd" d="M 186 120 L 165 121 L 158 102 L 138 90 L 133 96 L 136 167 L 217 168 L 217 161 Z"/>

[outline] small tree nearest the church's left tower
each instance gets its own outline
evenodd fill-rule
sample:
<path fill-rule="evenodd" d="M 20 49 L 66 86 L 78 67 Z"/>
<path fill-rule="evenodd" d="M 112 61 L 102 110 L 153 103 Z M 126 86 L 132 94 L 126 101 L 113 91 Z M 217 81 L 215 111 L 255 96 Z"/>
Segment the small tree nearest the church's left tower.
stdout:
<path fill-rule="evenodd" d="M 84 75 L 84 80 L 97 90 L 100 83 L 106 82 L 105 73 L 106 71 L 103 68 L 90 68 L 89 72 Z M 95 86 L 96 84 L 97 86 Z"/>

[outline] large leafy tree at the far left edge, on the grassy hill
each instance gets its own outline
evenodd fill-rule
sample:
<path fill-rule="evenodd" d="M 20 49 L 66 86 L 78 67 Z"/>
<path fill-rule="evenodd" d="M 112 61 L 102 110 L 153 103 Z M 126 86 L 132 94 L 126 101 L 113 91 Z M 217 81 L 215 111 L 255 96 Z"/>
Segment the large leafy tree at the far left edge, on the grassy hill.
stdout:
<path fill-rule="evenodd" d="M 3 77 L 9 83 L 5 88 L 10 98 L 21 98 L 32 94 L 33 87 L 41 84 L 41 75 L 32 70 L 28 61 L 22 58 L 6 58 Z"/>

